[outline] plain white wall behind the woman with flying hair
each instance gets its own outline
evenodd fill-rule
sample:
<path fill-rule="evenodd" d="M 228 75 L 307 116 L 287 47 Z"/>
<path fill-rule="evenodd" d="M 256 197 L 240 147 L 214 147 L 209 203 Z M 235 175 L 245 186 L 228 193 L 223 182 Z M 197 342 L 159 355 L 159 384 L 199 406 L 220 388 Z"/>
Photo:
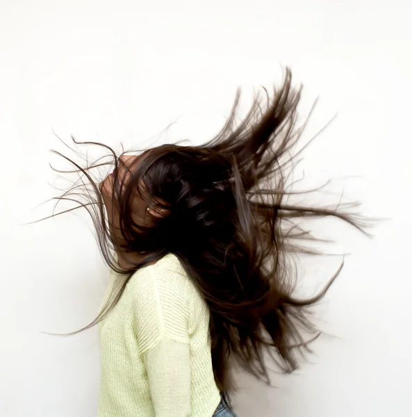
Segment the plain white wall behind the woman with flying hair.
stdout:
<path fill-rule="evenodd" d="M 92 320 L 108 272 L 85 216 L 20 225 L 51 210 L 31 212 L 54 195 L 52 129 L 132 147 L 176 121 L 163 139 L 200 143 L 282 64 L 304 110 L 320 96 L 306 138 L 338 113 L 306 179 L 353 176 L 336 192 L 392 220 L 374 240 L 343 229 L 354 254 L 318 308 L 333 337 L 277 389 L 240 377 L 238 414 L 411 416 L 411 16 L 407 0 L 1 1 L 0 415 L 97 415 L 97 330 L 41 332 Z M 308 288 L 338 263 L 312 263 Z"/>

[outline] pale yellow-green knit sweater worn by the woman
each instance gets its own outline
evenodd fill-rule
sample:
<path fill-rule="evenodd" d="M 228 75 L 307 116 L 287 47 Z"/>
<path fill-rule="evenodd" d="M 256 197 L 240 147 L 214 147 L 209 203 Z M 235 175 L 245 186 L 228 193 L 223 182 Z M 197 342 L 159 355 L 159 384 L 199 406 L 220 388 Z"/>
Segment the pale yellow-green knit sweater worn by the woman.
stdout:
<path fill-rule="evenodd" d="M 104 302 L 119 279 L 110 274 Z M 99 417 L 213 416 L 220 393 L 208 323 L 176 256 L 138 270 L 99 325 Z"/>

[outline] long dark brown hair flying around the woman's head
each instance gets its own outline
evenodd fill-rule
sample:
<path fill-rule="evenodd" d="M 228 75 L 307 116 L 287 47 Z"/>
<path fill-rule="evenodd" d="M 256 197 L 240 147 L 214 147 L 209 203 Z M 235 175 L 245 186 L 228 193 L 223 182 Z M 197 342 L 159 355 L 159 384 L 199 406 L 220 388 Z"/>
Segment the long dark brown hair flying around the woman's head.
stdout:
<path fill-rule="evenodd" d="M 242 122 L 236 124 L 238 92 L 223 129 L 205 145 L 149 149 L 127 183 L 113 193 L 120 212 L 122 249 L 144 259 L 128 270 L 113 261 L 107 215 L 98 183 L 90 174 L 102 164 L 97 161 L 82 167 L 60 154 L 75 165 L 83 181 L 57 199 L 74 201 L 79 204 L 74 208 L 88 210 L 106 262 L 124 277 L 96 320 L 84 329 L 113 309 L 136 270 L 171 252 L 210 310 L 213 370 L 221 391 L 231 388 L 229 358 L 268 383 L 265 351 L 283 371 L 297 368 L 296 353 L 318 335 L 308 307 L 324 296 L 342 267 L 317 296 L 308 300 L 295 297 L 288 255 L 313 253 L 305 243 L 315 239 L 299 220 L 332 216 L 363 232 L 365 226 L 356 213 L 295 206 L 288 201 L 292 192 L 287 190 L 287 174 L 299 153 L 292 151 L 304 128 L 304 124 L 296 126 L 301 90 L 292 88 L 287 69 L 281 88 L 274 88 L 273 95 L 266 92 L 265 100 L 257 96 Z M 113 156 L 111 163 L 120 164 L 106 145 L 74 142 L 105 147 Z M 150 227 L 137 224 L 132 216 L 139 181 L 150 199 L 165 202 L 169 213 Z M 312 336 L 306 338 L 308 332 Z"/>

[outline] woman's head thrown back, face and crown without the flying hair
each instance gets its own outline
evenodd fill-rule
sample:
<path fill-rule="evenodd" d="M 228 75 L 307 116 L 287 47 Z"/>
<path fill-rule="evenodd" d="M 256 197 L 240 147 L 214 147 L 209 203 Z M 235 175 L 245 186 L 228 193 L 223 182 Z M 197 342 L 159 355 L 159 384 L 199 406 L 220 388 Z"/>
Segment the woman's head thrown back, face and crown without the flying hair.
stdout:
<path fill-rule="evenodd" d="M 190 256 L 211 242 L 226 250 L 243 198 L 236 167 L 231 154 L 208 147 L 163 145 L 120 156 L 99 186 L 117 252 L 146 261 L 167 252 Z"/>

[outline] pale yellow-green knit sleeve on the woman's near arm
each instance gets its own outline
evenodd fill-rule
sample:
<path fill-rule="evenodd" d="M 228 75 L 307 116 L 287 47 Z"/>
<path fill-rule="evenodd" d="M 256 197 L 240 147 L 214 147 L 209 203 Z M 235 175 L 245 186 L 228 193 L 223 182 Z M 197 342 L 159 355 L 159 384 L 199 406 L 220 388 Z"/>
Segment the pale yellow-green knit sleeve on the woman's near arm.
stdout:
<path fill-rule="evenodd" d="M 136 337 L 156 417 L 190 416 L 186 283 L 178 272 L 148 267 L 135 293 Z"/>

